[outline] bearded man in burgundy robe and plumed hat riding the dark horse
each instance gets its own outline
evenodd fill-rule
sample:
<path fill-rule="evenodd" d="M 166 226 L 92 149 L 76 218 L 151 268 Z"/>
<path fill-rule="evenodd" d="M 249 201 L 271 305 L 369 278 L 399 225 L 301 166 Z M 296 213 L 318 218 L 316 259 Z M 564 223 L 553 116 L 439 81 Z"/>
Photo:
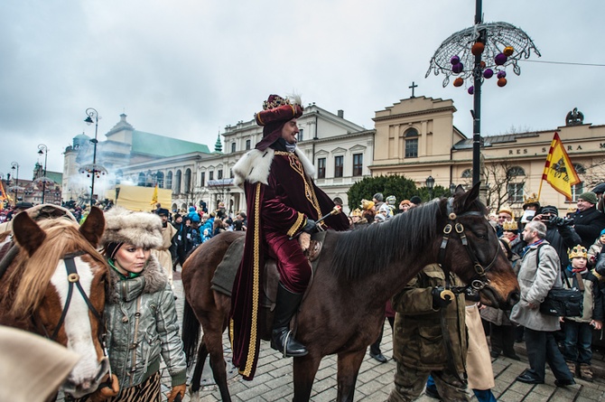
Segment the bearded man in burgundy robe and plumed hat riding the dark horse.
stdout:
<path fill-rule="evenodd" d="M 233 363 L 244 379 L 252 379 L 259 351 L 256 322 L 258 289 L 265 257 L 275 259 L 280 274 L 271 347 L 284 356 L 303 356 L 307 350 L 289 331 L 290 321 L 311 279 L 311 266 L 302 254 L 309 234 L 319 220 L 334 209 L 334 202 L 313 182 L 314 167 L 296 148 L 297 118 L 302 116 L 299 99 L 271 95 L 256 124 L 263 138 L 233 167 L 235 183 L 244 188 L 248 228 L 244 258 L 237 271 L 231 304 Z M 344 214 L 334 214 L 321 227 L 349 229 Z M 299 244 L 299 239 L 302 240 Z M 265 250 L 258 253 L 258 250 Z M 256 341 L 251 341 L 256 340 Z"/>

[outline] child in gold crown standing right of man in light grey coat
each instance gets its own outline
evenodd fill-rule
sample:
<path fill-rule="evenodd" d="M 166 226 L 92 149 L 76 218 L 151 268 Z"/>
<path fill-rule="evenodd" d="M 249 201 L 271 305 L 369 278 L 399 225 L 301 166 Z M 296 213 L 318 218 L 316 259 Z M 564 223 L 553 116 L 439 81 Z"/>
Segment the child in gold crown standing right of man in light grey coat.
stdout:
<path fill-rule="evenodd" d="M 571 248 L 569 259 L 570 266 L 563 271 L 566 279 L 564 283 L 567 287 L 575 287 L 582 291 L 583 311 L 581 317 L 564 317 L 563 357 L 572 374 L 592 381 L 592 328 L 600 330 L 602 327 L 602 294 L 599 289 L 599 279 L 587 268 L 586 248 L 582 245 Z"/>

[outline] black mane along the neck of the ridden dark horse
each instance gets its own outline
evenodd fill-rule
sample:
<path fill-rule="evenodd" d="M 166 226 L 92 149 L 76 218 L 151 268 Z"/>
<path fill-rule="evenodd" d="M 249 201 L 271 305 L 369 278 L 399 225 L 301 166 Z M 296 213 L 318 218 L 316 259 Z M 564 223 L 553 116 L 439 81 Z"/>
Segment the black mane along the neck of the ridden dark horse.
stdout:
<path fill-rule="evenodd" d="M 442 216 L 444 201 L 430 201 L 384 223 L 340 232 L 330 265 L 334 273 L 348 279 L 369 276 L 428 247 L 436 236 L 435 222 Z"/>

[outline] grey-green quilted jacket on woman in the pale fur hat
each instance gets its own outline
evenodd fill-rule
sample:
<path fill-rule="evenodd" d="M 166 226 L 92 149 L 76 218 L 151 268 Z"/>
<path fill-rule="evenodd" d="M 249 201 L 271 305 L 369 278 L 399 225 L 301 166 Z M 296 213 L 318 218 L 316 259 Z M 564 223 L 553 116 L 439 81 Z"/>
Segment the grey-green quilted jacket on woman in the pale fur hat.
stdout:
<path fill-rule="evenodd" d="M 141 384 L 157 372 L 160 356 L 172 377 L 172 387 L 185 383 L 187 364 L 174 294 L 155 257 L 150 257 L 142 275 L 135 278 L 120 279 L 110 269 L 105 319 L 111 370 L 121 389 Z"/>

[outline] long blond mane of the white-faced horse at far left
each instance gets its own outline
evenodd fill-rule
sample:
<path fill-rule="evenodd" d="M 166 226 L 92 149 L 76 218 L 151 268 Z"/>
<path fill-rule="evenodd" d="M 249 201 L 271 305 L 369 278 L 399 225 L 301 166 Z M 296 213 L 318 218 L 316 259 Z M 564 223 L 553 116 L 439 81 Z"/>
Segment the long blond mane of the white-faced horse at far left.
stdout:
<path fill-rule="evenodd" d="M 37 223 L 46 232 L 46 238 L 32 257 L 20 249 L 14 258 L 14 269 L 6 279 L 7 288 L 14 293 L 11 313 L 15 317 L 33 313 L 40 306 L 51 276 L 63 256 L 83 251 L 99 265 L 105 266 L 103 257 L 79 233 L 78 224 L 69 220 L 40 220 Z"/>

